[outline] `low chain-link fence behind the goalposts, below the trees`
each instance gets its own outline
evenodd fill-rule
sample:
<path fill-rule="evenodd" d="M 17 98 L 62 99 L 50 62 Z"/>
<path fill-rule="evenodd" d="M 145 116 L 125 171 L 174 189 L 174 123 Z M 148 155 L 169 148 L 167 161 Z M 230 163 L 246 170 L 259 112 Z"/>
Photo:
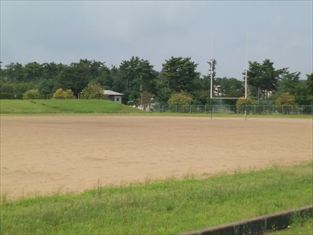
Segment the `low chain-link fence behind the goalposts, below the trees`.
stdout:
<path fill-rule="evenodd" d="M 224 114 L 307 114 L 313 115 L 313 105 L 153 105 L 152 112 L 224 113 Z"/>

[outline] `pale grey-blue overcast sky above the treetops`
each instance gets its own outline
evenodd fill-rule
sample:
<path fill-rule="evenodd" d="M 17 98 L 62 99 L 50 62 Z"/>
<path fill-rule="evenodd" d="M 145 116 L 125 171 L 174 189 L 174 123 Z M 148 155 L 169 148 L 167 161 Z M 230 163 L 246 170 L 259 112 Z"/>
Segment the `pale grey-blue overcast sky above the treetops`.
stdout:
<path fill-rule="evenodd" d="M 1 61 L 108 66 L 139 56 L 155 69 L 191 57 L 241 78 L 248 60 L 312 72 L 312 1 L 3 1 Z"/>

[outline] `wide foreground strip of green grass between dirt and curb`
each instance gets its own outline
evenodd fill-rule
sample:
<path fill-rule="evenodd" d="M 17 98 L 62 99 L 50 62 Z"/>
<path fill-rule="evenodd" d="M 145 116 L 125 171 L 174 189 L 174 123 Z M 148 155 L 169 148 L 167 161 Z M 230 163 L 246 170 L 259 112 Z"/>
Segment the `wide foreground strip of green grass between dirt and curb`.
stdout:
<path fill-rule="evenodd" d="M 2 234 L 175 234 L 312 204 L 312 163 L 2 201 Z"/>

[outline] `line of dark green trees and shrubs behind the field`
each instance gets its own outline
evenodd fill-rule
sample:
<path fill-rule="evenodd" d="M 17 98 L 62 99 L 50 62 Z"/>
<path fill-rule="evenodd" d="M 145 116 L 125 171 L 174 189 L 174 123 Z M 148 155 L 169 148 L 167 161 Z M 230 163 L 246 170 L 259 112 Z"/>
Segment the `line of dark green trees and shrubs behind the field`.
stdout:
<path fill-rule="evenodd" d="M 212 102 L 209 92 L 211 75 L 215 95 L 244 95 L 242 79 L 216 77 L 216 60 L 208 63 L 208 74 L 204 75 L 197 72 L 197 64 L 189 57 L 171 57 L 162 64 L 161 71 L 156 71 L 148 60 L 139 57 L 131 57 L 119 66 L 111 67 L 104 62 L 87 59 L 69 65 L 54 62 L 10 63 L 0 67 L 0 98 L 49 99 L 56 98 L 56 92 L 67 92 L 68 98 L 104 98 L 88 94 L 109 89 L 123 93 L 125 104 L 145 105 L 152 101 L 161 104 L 208 104 Z M 300 72 L 291 72 L 288 68 L 276 69 L 272 61 L 265 59 L 262 62 L 250 61 L 247 76 L 250 102 L 272 104 L 282 100 L 299 105 L 313 103 L 313 73 L 307 74 L 306 80 L 300 80 Z M 223 102 L 235 104 L 234 100 Z"/>

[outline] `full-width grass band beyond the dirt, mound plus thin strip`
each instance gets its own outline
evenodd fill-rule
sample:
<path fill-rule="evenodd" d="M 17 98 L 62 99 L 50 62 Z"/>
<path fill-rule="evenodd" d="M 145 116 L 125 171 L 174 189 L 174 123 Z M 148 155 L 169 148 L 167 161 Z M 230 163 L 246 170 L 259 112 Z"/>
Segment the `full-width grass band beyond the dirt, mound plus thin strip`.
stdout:
<path fill-rule="evenodd" d="M 107 100 L 0 100 L 0 114 L 127 114 L 144 116 L 210 117 L 209 113 L 143 112 L 126 105 Z M 213 113 L 213 118 L 244 118 L 243 114 Z M 312 118 L 309 114 L 263 114 L 248 115 L 249 118 Z"/>

